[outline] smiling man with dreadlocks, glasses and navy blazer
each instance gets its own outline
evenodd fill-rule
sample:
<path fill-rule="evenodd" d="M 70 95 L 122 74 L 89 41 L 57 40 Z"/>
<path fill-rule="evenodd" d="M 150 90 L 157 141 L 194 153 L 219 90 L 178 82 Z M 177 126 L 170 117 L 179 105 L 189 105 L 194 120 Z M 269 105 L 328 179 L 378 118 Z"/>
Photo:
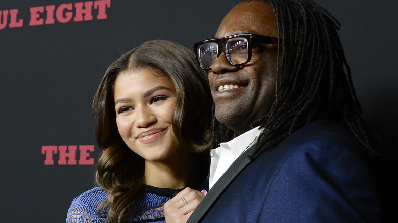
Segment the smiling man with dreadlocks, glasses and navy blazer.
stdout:
<path fill-rule="evenodd" d="M 195 44 L 218 120 L 210 190 L 197 207 L 201 193 L 177 194 L 166 220 L 170 206 L 188 222 L 380 220 L 377 143 L 338 26 L 309 0 L 242 1 Z"/>

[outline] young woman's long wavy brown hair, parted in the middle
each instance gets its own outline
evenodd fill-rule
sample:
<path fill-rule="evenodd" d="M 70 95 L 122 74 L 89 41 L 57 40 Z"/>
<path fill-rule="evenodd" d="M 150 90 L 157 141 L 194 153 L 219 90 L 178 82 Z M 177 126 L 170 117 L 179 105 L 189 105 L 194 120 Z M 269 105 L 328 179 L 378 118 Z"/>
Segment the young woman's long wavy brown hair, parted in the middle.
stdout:
<path fill-rule="evenodd" d="M 98 213 L 108 211 L 108 222 L 125 221 L 144 194 L 144 159 L 119 135 L 113 97 L 118 74 L 144 68 L 175 85 L 173 131 L 179 142 L 195 153 L 198 176 L 205 179 L 208 172 L 212 98 L 207 73 L 197 67 L 195 55 L 188 48 L 165 40 L 147 41 L 110 65 L 93 101 L 96 139 L 105 149 L 98 161 L 96 183 L 109 194 Z"/>

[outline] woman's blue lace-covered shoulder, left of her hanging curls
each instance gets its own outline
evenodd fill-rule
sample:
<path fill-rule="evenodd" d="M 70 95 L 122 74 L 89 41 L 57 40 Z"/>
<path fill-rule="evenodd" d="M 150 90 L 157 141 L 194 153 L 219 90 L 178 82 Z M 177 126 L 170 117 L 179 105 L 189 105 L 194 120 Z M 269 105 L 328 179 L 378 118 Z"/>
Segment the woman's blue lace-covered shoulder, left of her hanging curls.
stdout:
<path fill-rule="evenodd" d="M 99 205 L 108 198 L 107 192 L 101 187 L 90 189 L 74 198 L 68 210 L 68 218 L 96 219 Z M 104 213 L 105 214 L 105 213 Z M 88 218 L 87 218 L 88 219 Z M 68 221 L 67 221 L 68 222 Z"/>

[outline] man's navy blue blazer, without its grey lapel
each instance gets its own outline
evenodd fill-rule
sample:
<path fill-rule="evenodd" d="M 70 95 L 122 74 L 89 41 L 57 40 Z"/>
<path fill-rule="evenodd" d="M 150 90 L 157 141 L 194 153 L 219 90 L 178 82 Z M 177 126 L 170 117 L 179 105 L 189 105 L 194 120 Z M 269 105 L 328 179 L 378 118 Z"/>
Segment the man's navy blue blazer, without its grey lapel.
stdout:
<path fill-rule="evenodd" d="M 351 131 L 324 120 L 249 160 L 252 146 L 188 222 L 378 222 L 375 177 L 358 148 Z"/>

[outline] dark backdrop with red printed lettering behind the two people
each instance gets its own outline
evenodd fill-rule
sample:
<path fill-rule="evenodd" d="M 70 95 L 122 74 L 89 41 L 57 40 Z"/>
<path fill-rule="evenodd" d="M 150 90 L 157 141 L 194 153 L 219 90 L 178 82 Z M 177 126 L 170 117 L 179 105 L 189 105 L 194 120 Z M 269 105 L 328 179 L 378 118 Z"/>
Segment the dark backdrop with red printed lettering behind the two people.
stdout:
<path fill-rule="evenodd" d="M 342 23 L 364 117 L 396 154 L 396 0 L 318 2 Z M 93 187 L 101 149 L 91 102 L 110 63 L 150 39 L 192 48 L 235 1 L 86 1 L 92 18 L 83 21 L 75 3 L 0 2 L 1 222 L 64 222 L 72 199 Z"/>

